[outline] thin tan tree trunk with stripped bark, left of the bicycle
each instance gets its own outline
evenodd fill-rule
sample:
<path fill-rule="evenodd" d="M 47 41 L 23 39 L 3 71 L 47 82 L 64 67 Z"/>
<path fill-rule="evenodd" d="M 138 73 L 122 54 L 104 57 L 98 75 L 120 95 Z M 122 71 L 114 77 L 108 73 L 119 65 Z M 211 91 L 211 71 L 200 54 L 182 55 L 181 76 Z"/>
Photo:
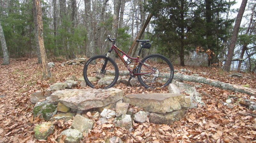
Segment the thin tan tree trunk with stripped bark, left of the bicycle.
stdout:
<path fill-rule="evenodd" d="M 43 78 L 50 78 L 51 71 L 47 63 L 47 56 L 44 49 L 44 35 L 43 35 L 43 19 L 42 19 L 42 9 L 41 9 L 41 0 L 35 0 L 36 4 L 36 19 L 38 27 L 38 42 L 40 46 L 42 65 L 43 65 Z"/>

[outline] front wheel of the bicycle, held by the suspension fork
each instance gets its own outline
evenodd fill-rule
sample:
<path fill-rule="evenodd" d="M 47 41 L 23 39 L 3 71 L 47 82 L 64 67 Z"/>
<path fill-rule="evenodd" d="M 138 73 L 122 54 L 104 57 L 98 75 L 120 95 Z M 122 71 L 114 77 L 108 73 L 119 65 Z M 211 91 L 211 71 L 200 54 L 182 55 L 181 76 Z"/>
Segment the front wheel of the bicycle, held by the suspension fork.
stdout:
<path fill-rule="evenodd" d="M 111 58 L 96 55 L 85 63 L 83 75 L 88 86 L 107 89 L 115 85 L 119 71 Z"/>

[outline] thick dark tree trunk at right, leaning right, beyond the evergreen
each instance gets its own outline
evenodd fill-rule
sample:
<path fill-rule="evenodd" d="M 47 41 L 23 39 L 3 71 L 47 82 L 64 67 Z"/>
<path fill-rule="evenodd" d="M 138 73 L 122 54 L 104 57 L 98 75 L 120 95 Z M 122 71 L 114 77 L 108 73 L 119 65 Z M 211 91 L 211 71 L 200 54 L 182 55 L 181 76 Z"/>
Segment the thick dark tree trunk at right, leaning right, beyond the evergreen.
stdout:
<path fill-rule="evenodd" d="M 235 49 L 235 46 L 236 46 L 236 38 L 237 38 L 237 34 L 238 34 L 239 27 L 240 27 L 240 24 L 241 24 L 241 20 L 243 18 L 244 9 L 246 7 L 246 4 L 247 4 L 247 0 L 243 0 L 241 6 L 239 8 L 237 17 L 236 17 L 236 22 L 235 22 L 235 26 L 234 26 L 234 29 L 233 29 L 233 32 L 232 32 L 230 45 L 228 47 L 227 60 L 225 61 L 224 68 L 223 68 L 225 71 L 230 70 L 231 60 L 234 56 L 234 49 Z"/>

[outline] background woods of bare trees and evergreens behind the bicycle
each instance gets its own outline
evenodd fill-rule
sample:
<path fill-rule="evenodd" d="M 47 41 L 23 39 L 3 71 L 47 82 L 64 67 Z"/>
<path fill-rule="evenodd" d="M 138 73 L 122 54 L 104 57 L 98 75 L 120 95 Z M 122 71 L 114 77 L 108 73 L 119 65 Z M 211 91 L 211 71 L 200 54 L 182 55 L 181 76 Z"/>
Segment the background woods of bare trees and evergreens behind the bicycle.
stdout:
<path fill-rule="evenodd" d="M 5 63 L 9 62 L 6 61 L 9 57 L 38 57 L 38 62 L 42 60 L 38 37 L 35 34 L 38 30 L 34 1 L 2 0 L 0 3 L 0 58 L 3 58 Z M 255 71 L 256 1 L 245 3 L 243 20 L 238 25 L 232 52 L 230 48 L 233 47 L 231 39 L 236 16 L 241 17 L 237 15 L 239 8 L 231 9 L 236 1 L 41 1 L 45 52 L 48 59 L 59 56 L 73 59 L 77 56 L 105 54 L 109 43 L 104 40 L 111 34 L 117 38 L 118 47 L 136 55 L 139 48 L 132 45 L 132 42 L 140 32 L 140 39 L 150 39 L 152 42 L 149 54 L 163 54 L 174 64 L 220 66 L 228 60 L 230 65 L 225 65 L 228 67 L 226 70 L 231 68 L 238 71 Z M 145 27 L 149 15 L 153 17 Z M 6 47 L 3 46 L 4 42 Z M 143 50 L 145 51 L 142 56 L 146 56 L 148 51 Z"/>

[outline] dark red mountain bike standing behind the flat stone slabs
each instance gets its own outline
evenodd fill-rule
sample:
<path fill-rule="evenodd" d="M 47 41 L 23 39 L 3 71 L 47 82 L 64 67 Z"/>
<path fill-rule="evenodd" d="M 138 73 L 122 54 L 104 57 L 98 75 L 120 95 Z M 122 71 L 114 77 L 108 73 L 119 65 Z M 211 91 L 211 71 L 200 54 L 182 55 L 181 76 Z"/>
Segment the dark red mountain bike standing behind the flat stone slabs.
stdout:
<path fill-rule="evenodd" d="M 140 42 L 140 50 L 136 58 L 130 57 L 119 49 L 116 44 L 116 38 L 108 38 L 105 41 L 111 42 L 111 47 L 105 55 L 95 55 L 86 61 L 84 65 L 83 75 L 86 84 L 92 88 L 107 89 L 114 86 L 119 78 L 119 69 L 116 62 L 109 57 L 114 50 L 126 68 L 129 70 L 130 78 L 138 78 L 140 84 L 145 88 L 156 88 L 166 86 L 172 82 L 174 69 L 171 61 L 161 54 L 150 54 L 139 61 L 142 48 L 149 49 L 150 40 L 136 40 Z M 120 51 L 123 57 L 118 53 Z M 125 57 L 126 56 L 126 57 Z M 133 68 L 128 65 L 131 63 L 129 59 L 135 60 Z"/>

